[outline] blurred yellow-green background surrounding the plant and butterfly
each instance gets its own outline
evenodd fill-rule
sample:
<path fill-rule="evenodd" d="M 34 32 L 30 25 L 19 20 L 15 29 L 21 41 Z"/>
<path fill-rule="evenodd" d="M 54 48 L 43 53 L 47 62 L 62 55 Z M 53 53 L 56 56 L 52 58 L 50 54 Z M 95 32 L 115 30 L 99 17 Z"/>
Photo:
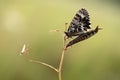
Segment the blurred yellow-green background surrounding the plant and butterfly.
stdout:
<path fill-rule="evenodd" d="M 19 54 L 26 43 L 31 57 L 58 67 L 62 36 L 50 30 L 64 31 L 81 8 L 103 30 L 66 52 L 63 80 L 120 80 L 119 0 L 0 0 L 0 80 L 58 80 Z"/>

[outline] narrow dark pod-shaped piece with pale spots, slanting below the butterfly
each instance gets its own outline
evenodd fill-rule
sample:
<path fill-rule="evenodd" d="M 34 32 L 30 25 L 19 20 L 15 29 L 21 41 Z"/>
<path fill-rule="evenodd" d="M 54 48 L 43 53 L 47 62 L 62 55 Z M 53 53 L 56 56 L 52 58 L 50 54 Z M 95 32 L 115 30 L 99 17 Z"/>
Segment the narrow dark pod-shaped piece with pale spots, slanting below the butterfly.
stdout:
<path fill-rule="evenodd" d="M 75 39 L 71 40 L 66 47 L 69 47 L 69 46 L 72 46 L 80 41 L 83 41 L 83 40 L 86 40 L 88 38 L 90 38 L 91 36 L 95 35 L 98 30 L 100 28 L 98 28 L 98 26 L 94 29 L 94 30 L 91 30 L 91 31 L 88 31 L 86 33 L 83 33 L 83 34 L 80 34 L 78 37 L 76 37 Z"/>

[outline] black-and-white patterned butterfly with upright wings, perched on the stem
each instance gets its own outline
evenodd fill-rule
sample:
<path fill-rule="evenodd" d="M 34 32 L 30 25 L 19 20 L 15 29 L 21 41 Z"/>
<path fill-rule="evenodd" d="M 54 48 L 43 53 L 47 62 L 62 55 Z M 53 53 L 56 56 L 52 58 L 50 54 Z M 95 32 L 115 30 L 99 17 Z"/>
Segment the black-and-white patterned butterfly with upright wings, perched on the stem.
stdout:
<path fill-rule="evenodd" d="M 91 29 L 90 24 L 89 14 L 87 10 L 82 8 L 75 14 L 65 34 L 68 38 L 78 36 L 87 31 L 87 29 Z"/>

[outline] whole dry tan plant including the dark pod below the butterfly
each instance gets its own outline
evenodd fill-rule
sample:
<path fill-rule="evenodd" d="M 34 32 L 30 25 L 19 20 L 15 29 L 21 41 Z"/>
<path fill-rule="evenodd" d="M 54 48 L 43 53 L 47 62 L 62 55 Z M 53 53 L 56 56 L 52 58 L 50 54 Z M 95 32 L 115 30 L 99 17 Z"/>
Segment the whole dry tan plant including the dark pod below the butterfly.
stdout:
<path fill-rule="evenodd" d="M 65 29 L 67 27 L 67 23 L 65 23 Z M 68 47 L 80 42 L 80 41 L 83 41 L 83 40 L 86 40 L 88 38 L 90 38 L 91 36 L 93 36 L 94 34 L 96 34 L 99 30 L 101 30 L 102 28 L 99 28 L 98 26 L 94 29 L 94 30 L 90 30 L 90 31 L 87 31 L 86 33 L 82 33 L 81 35 L 79 35 L 78 37 L 72 39 L 71 41 L 69 41 L 67 43 L 66 39 L 67 39 L 67 36 L 64 34 L 63 35 L 63 50 L 62 50 L 62 53 L 61 53 L 61 58 L 60 58 L 60 62 L 59 62 L 59 65 L 58 65 L 58 68 L 55 68 L 54 66 L 50 65 L 50 64 L 47 64 L 45 62 L 42 62 L 42 61 L 37 61 L 37 60 L 34 60 L 32 58 L 30 58 L 29 56 L 26 55 L 26 53 L 29 51 L 28 48 L 26 47 L 26 44 L 23 45 L 23 48 L 21 50 L 21 54 L 20 55 L 24 55 L 25 58 L 29 61 L 29 62 L 34 62 L 34 63 L 38 63 L 38 64 L 42 64 L 44 66 L 47 66 L 51 69 L 53 69 L 57 74 L 58 74 L 58 80 L 62 80 L 62 76 L 61 76 L 61 73 L 62 73 L 62 67 L 63 67 L 63 60 L 64 60 L 64 56 L 65 56 L 65 52 L 66 50 L 68 49 Z M 55 32 L 61 32 L 60 30 L 53 30 Z M 61 32 L 62 33 L 62 32 Z M 63 33 L 62 33 L 63 34 Z M 66 44 L 67 43 L 67 44 Z"/>

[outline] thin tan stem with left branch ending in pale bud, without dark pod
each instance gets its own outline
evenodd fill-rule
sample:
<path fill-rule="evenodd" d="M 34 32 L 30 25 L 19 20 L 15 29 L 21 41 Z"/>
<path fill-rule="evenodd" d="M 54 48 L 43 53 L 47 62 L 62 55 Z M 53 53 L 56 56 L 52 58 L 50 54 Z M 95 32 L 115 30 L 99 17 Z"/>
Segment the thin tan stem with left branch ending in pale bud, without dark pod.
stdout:
<path fill-rule="evenodd" d="M 53 66 L 50 65 L 50 64 L 45 63 L 45 62 L 37 61 L 37 60 L 35 60 L 35 59 L 32 59 L 32 58 L 30 58 L 30 57 L 27 56 L 27 55 L 26 55 L 25 57 L 26 57 L 26 59 L 27 59 L 29 62 L 42 64 L 42 65 L 44 65 L 44 66 L 46 66 L 46 67 L 49 67 L 49 68 L 53 69 L 54 71 L 56 71 L 56 72 L 58 73 L 58 78 L 59 78 L 59 80 L 62 80 L 61 72 L 62 72 L 63 60 L 64 60 L 64 56 L 65 56 L 65 51 L 66 51 L 66 50 L 67 50 L 67 48 L 66 48 L 66 35 L 64 35 L 64 36 L 63 36 L 63 50 L 62 50 L 61 59 L 60 59 L 59 68 L 58 68 L 58 69 L 55 68 L 55 67 L 53 67 Z M 26 49 L 26 45 L 24 44 L 24 46 L 23 46 L 23 48 L 22 48 L 22 52 L 21 52 L 20 55 L 24 55 L 24 54 L 26 54 L 26 52 L 27 52 L 27 49 Z"/>

